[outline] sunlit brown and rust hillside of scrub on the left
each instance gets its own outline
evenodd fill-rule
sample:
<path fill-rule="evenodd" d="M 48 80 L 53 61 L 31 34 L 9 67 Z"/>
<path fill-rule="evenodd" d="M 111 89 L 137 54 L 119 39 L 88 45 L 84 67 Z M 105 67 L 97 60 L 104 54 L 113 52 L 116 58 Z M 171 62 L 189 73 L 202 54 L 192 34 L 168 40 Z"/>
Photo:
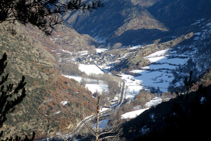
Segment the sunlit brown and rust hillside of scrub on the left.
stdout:
<path fill-rule="evenodd" d="M 11 34 L 6 25 L 0 25 L 0 55 L 8 55 L 6 73 L 10 74 L 10 82 L 17 83 L 22 75 L 26 77 L 27 96 L 8 115 L 4 134 L 24 136 L 35 131 L 36 138 L 41 138 L 57 132 L 69 133 L 83 115 L 92 113 L 95 100 L 91 92 L 60 75 L 55 57 L 47 51 L 58 49 L 50 38 L 34 27 L 17 23 L 15 29 L 17 33 Z M 69 31 L 74 36 L 74 31 Z"/>

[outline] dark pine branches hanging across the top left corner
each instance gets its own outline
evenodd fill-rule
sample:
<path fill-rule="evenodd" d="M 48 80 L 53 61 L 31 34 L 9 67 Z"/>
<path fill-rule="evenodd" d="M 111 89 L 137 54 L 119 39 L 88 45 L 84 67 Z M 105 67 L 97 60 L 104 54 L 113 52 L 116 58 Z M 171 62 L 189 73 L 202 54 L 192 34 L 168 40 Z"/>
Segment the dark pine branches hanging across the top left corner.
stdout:
<path fill-rule="evenodd" d="M 59 15 L 78 9 L 91 11 L 103 6 L 100 0 L 88 4 L 81 0 L 69 0 L 67 3 L 60 3 L 58 0 L 1 0 L 0 23 L 30 23 L 46 35 L 51 35 L 55 25 L 61 23 Z"/>

